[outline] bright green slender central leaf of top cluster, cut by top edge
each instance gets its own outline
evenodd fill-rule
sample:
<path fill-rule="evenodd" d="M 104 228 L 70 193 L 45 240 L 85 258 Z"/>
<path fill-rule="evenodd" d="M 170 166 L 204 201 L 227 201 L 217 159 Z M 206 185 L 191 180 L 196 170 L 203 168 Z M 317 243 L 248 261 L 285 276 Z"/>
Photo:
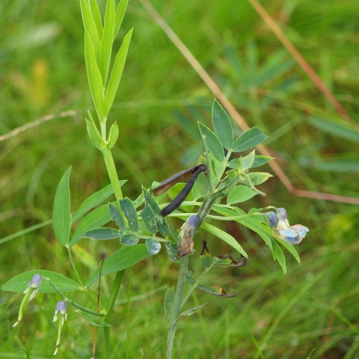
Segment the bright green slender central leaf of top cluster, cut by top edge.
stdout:
<path fill-rule="evenodd" d="M 102 83 L 107 84 L 108 69 L 111 60 L 113 28 L 115 26 L 115 0 L 107 0 L 105 21 L 103 25 L 103 37 L 100 45 L 100 72 Z"/>

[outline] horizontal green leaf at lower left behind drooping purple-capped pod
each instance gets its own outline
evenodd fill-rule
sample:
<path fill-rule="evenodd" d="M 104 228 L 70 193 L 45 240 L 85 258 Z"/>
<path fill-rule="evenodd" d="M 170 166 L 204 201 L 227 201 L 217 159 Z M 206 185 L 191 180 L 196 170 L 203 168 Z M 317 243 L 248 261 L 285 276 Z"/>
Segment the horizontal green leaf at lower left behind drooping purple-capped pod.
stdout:
<path fill-rule="evenodd" d="M 50 278 L 61 292 L 73 292 L 74 290 L 80 289 L 80 285 L 76 283 L 74 280 L 67 278 L 62 274 L 55 273 L 49 270 L 41 270 L 41 269 L 35 269 L 15 275 L 13 278 L 8 280 L 2 286 L 1 289 L 6 290 L 8 292 L 23 293 L 34 274 L 40 274 L 43 277 Z M 43 279 L 41 286 L 39 288 L 39 293 L 55 293 L 55 292 L 56 290 L 53 289 L 53 286 L 50 283 L 48 283 L 47 280 Z"/>

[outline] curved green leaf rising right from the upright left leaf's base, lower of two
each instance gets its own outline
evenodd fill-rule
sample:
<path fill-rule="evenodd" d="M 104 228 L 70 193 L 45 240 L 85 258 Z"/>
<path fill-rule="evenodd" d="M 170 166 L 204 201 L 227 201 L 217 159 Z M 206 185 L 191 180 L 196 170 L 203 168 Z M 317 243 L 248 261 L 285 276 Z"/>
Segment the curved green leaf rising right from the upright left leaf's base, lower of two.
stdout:
<path fill-rule="evenodd" d="M 94 209 L 87 216 L 81 219 L 74 235 L 70 241 L 70 247 L 73 246 L 79 239 L 90 229 L 102 227 L 111 220 L 108 210 L 108 204 Z"/>

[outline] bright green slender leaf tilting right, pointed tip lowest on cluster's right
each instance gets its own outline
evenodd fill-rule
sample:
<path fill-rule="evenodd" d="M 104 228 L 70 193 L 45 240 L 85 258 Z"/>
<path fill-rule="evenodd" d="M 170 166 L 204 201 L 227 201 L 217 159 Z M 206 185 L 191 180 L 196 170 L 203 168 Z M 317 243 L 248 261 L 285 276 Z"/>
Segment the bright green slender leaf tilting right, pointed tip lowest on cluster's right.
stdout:
<path fill-rule="evenodd" d="M 105 116 L 108 115 L 108 112 L 112 107 L 113 100 L 115 99 L 115 95 L 117 92 L 118 84 L 120 84 L 123 67 L 125 67 L 127 51 L 129 50 L 131 36 L 132 36 L 132 29 L 127 33 L 127 35 L 123 39 L 120 50 L 118 50 L 116 56 L 115 64 L 113 65 L 110 80 L 108 82 L 108 86 L 105 93 L 105 105 L 104 105 Z"/>

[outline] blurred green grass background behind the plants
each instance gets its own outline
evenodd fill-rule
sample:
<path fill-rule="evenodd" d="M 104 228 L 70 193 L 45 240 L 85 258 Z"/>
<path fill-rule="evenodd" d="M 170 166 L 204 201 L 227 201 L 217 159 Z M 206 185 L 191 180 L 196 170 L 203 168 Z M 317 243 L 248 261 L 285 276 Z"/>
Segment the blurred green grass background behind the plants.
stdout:
<path fill-rule="evenodd" d="M 99 2 L 104 11 L 104 1 Z M 340 137 L 329 125 L 314 125 L 312 116 L 340 122 L 300 67 L 293 63 L 272 78 L 251 81 L 271 55 L 282 50 L 275 36 L 247 1 L 154 1 L 174 31 L 220 84 L 251 125 L 270 135 L 269 147 L 297 187 L 359 196 L 358 141 Z M 355 1 L 265 1 L 263 5 L 281 23 L 298 50 L 334 92 L 358 126 L 359 3 Z M 75 117 L 60 118 L 0 142 L 0 237 L 51 218 L 57 183 L 72 164 L 72 209 L 95 190 L 107 185 L 101 155 L 87 138 L 82 113 L 92 108 L 83 55 L 83 26 L 77 1 L 3 0 L 0 4 L 0 134 L 48 113 L 76 109 Z M 198 153 L 198 142 L 188 129 L 196 121 L 210 122 L 213 95 L 186 60 L 132 0 L 115 44 L 134 26 L 121 85 L 109 122 L 120 127 L 114 157 L 120 178 L 128 178 L 124 193 L 136 198 L 140 185 L 188 166 Z M 233 58 L 242 61 L 248 81 L 238 75 Z M 269 76 L 278 66 L 274 63 Z M 278 65 L 278 66 L 277 66 Z M 180 121 L 179 118 L 185 118 Z M 315 122 L 315 121 L 314 121 Z M 331 122 L 330 122 L 331 123 Z M 340 122 L 341 123 L 341 122 Z M 239 130 L 237 128 L 237 134 Z M 353 131 L 353 130 L 351 130 Z M 338 166 L 339 161 L 339 166 Z M 324 165 L 323 165 L 324 163 Z M 328 165 L 328 163 L 330 165 Z M 270 171 L 270 170 L 269 170 Z M 237 224 L 224 227 L 250 254 L 241 269 L 217 269 L 206 283 L 221 285 L 233 299 L 197 292 L 194 303 L 208 302 L 201 314 L 181 319 L 176 358 L 253 358 L 265 341 L 268 358 L 359 358 L 358 330 L 343 322 L 330 307 L 359 326 L 358 207 L 293 197 L 277 178 L 261 190 L 266 197 L 243 204 L 244 210 L 265 205 L 284 206 L 293 224 L 310 228 L 297 246 L 302 264 L 286 256 L 283 275 L 262 241 Z M 201 234 L 202 235 L 202 234 Z M 230 248 L 210 236 L 213 254 Z M 97 261 L 118 243 L 79 243 Z M 199 247 L 199 241 L 195 244 Z M 1 245 L 0 282 L 33 268 L 73 276 L 67 254 L 51 226 Z M 190 266 L 198 274 L 198 257 Z M 131 295 L 135 297 L 167 284 L 172 286 L 178 267 L 165 252 L 133 268 Z M 80 265 L 86 278 L 92 269 Z M 111 283 L 108 281 L 108 283 Z M 126 297 L 128 273 L 121 287 Z M 103 283 L 106 290 L 106 282 Z M 163 358 L 166 344 L 164 291 L 131 303 L 130 357 Z M 55 295 L 39 295 L 27 308 L 23 323 L 11 328 L 19 295 L 2 292 L 0 298 L 0 357 L 47 358 L 55 345 L 52 324 Z M 83 304 L 86 303 L 84 299 Z M 117 307 L 112 330 L 113 358 L 124 358 L 126 306 Z M 88 358 L 93 329 L 78 314 L 69 313 L 63 331 L 60 358 Z M 98 357 L 104 356 L 102 333 Z"/>

